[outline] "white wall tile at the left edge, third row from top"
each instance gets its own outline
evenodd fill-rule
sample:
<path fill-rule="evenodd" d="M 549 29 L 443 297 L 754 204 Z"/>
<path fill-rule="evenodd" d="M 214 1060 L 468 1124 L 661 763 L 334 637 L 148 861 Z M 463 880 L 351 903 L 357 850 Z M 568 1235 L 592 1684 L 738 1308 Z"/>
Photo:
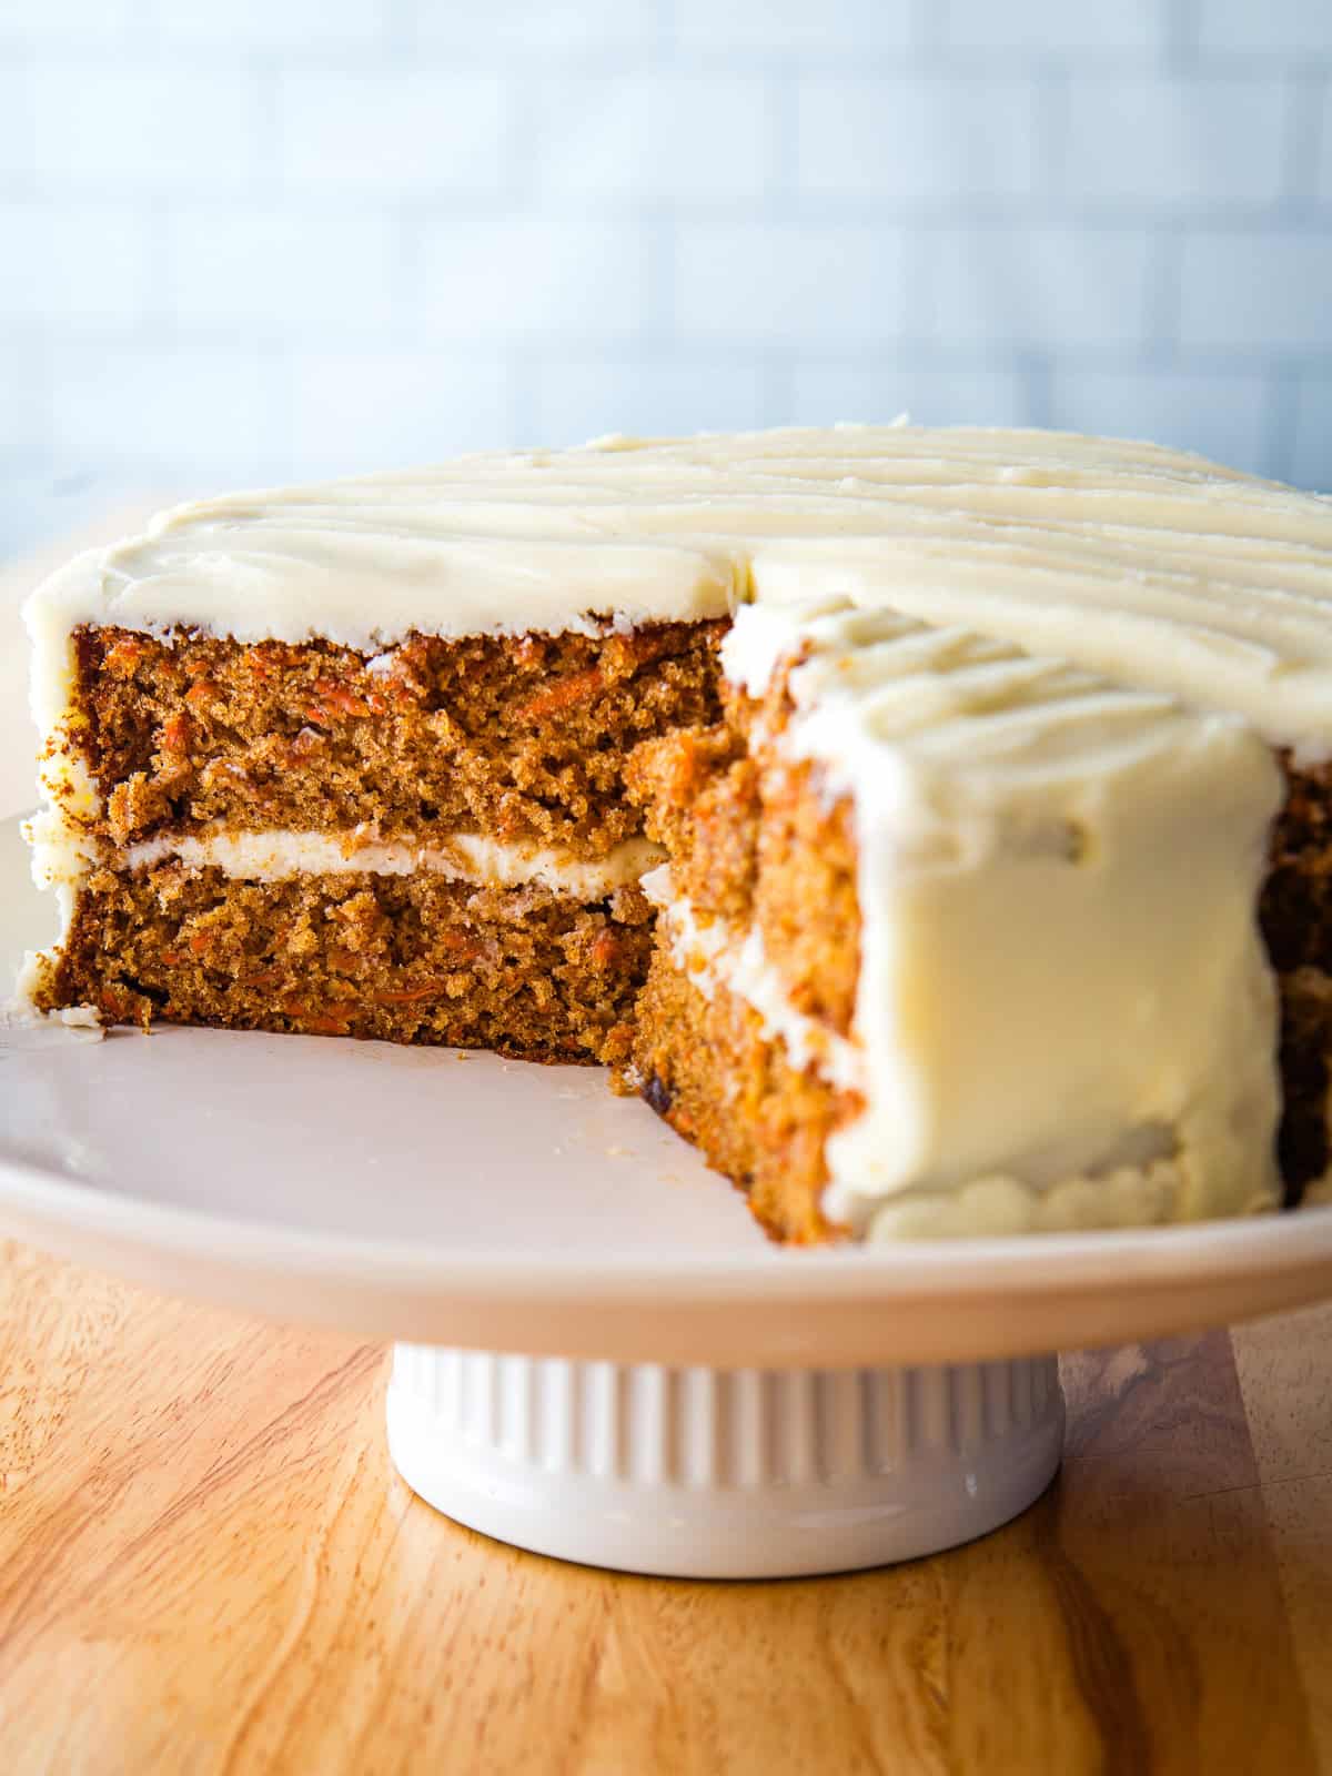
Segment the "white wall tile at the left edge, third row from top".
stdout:
<path fill-rule="evenodd" d="M 149 300 L 149 231 L 133 204 L 0 204 L 0 321 L 126 329 Z"/>

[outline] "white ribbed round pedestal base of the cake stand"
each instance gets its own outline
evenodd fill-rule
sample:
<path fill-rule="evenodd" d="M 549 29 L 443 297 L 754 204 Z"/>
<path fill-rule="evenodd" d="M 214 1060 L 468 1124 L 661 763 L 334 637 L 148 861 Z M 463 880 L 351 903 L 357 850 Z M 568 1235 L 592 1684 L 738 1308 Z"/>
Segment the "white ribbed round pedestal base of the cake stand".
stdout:
<path fill-rule="evenodd" d="M 687 1579 L 847 1572 L 996 1529 L 1050 1485 L 1053 1357 L 707 1369 L 394 1346 L 389 1449 L 448 1517 Z"/>

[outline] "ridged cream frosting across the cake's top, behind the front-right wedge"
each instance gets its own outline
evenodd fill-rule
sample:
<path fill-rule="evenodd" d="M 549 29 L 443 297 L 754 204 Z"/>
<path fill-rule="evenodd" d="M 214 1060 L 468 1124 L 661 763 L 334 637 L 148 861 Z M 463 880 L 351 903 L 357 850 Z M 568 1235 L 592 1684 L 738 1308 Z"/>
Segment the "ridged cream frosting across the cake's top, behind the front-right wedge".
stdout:
<path fill-rule="evenodd" d="M 1332 499 L 1151 444 L 835 426 L 231 496 L 80 556 L 78 622 L 357 648 L 840 595 L 1245 716 L 1332 753 Z"/>

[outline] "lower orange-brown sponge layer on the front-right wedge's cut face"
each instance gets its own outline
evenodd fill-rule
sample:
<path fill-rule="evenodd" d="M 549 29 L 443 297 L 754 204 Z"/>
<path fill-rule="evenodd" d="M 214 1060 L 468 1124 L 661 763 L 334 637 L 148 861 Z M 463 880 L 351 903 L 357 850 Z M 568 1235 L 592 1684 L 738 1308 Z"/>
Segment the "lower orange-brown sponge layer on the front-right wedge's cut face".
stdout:
<path fill-rule="evenodd" d="M 815 1245 L 842 1229 L 822 1215 L 824 1144 L 861 1108 L 813 1069 L 797 1069 L 780 1039 L 737 993 L 702 993 L 664 948 L 652 957 L 634 1012 L 627 1074 L 709 1165 L 748 1192 L 755 1220 L 774 1240 Z"/>

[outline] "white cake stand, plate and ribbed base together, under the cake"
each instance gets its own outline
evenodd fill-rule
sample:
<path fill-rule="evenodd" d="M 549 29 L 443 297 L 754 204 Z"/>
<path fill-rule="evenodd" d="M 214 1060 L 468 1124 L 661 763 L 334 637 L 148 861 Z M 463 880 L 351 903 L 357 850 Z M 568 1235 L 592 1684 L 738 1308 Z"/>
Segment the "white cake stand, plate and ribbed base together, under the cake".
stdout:
<path fill-rule="evenodd" d="M 50 938 L 0 824 L 0 979 Z M 0 1231 L 394 1341 L 392 1458 L 449 1517 L 632 1572 L 815 1574 L 1050 1483 L 1055 1352 L 1332 1293 L 1332 1209 L 778 1250 L 597 1069 L 320 1037 L 0 1030 Z"/>

